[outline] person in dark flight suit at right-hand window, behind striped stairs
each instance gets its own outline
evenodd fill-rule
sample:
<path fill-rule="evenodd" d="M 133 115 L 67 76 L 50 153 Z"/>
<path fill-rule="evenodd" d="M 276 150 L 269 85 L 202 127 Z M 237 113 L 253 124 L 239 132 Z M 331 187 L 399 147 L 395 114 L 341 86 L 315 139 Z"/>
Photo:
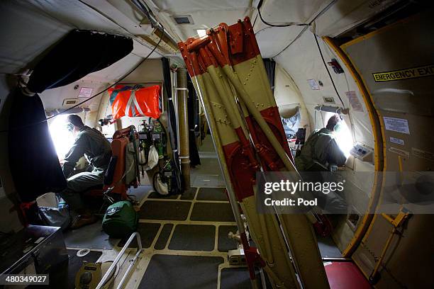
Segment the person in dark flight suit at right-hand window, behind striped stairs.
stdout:
<path fill-rule="evenodd" d="M 301 148 L 301 153 L 294 159 L 296 169 L 300 171 L 304 181 L 329 181 L 324 176 L 328 174 L 310 174 L 307 171 L 335 171 L 338 166 L 343 166 L 347 160 L 345 154 L 340 150 L 335 140 L 335 132 L 341 125 L 339 115 L 329 118 L 325 128 L 313 132 L 305 145 Z M 347 205 L 343 198 L 337 193 L 330 192 L 316 194 L 318 205 L 326 212 L 345 213 Z"/>

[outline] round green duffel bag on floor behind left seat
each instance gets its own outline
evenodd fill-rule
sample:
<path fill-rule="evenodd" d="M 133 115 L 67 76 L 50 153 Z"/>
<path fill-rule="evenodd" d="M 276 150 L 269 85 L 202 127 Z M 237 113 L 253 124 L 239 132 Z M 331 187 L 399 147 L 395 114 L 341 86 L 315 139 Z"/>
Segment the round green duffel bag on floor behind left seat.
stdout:
<path fill-rule="evenodd" d="M 128 200 L 114 203 L 106 210 L 102 227 L 104 232 L 113 238 L 128 237 L 138 225 L 138 213 Z"/>

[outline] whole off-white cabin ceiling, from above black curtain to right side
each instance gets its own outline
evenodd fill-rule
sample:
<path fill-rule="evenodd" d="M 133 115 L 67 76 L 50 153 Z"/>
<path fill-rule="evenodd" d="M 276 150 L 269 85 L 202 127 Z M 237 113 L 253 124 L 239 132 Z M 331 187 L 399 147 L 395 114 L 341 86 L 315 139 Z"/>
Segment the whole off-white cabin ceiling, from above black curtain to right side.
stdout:
<path fill-rule="evenodd" d="M 143 0 L 134 0 L 143 1 Z M 398 0 L 384 0 L 373 5 L 367 0 L 264 0 L 261 12 L 272 24 L 310 23 L 318 35 L 335 36 L 364 21 Z M 257 16 L 259 0 L 145 0 L 165 29 L 174 38 L 186 40 L 197 29 L 211 28 L 219 23 L 235 23 L 249 16 L 257 33 L 262 57 L 275 57 L 293 40 L 299 38 L 304 26 L 277 28 L 267 26 Z M 378 1 L 376 1 L 378 2 Z M 114 80 L 128 71 L 140 57 L 152 49 L 137 35 L 152 31 L 148 19 L 131 0 L 33 0 L 0 1 L 1 52 L 0 70 L 17 73 L 50 45 L 74 28 L 101 30 L 133 37 L 134 50 L 129 60 L 117 69 L 119 73 L 97 72 L 94 77 Z M 172 16 L 189 15 L 194 23 L 178 24 Z M 318 16 L 320 15 L 320 16 Z M 316 16 L 318 16 L 316 18 Z M 77 43 L 86 45 L 86 43 Z M 156 50 L 150 58 L 159 58 Z"/>

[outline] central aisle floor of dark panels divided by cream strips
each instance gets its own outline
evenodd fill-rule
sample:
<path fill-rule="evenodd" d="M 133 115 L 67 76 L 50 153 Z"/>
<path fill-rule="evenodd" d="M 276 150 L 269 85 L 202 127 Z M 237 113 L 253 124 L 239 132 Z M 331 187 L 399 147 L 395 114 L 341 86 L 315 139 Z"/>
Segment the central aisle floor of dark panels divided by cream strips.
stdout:
<path fill-rule="evenodd" d="M 213 206 L 218 210 L 210 210 Z M 192 188 L 178 198 L 150 195 L 141 205 L 139 222 L 158 225 L 158 232 L 140 233 L 152 244 L 130 278 L 131 283 L 143 271 L 134 288 L 245 288 L 246 281 L 250 286 L 246 268 L 223 270 L 233 268 L 227 252 L 237 247 L 227 237 L 236 226 L 223 188 Z"/>

